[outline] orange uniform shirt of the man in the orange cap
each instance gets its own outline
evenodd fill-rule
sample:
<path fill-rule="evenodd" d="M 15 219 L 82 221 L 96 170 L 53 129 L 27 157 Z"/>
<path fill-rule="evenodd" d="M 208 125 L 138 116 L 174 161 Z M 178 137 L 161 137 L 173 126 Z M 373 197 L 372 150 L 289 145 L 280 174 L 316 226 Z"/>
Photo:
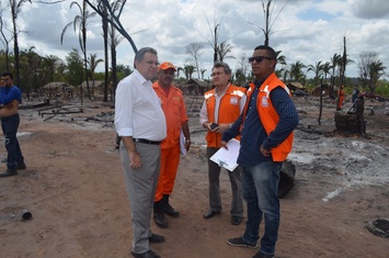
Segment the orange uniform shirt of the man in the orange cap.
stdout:
<path fill-rule="evenodd" d="M 161 143 L 161 148 L 171 148 L 180 144 L 180 132 L 182 123 L 187 121 L 186 106 L 182 91 L 174 87 L 170 87 L 169 96 L 156 81 L 152 88 L 157 96 L 161 99 L 162 110 L 167 120 L 167 137 Z"/>

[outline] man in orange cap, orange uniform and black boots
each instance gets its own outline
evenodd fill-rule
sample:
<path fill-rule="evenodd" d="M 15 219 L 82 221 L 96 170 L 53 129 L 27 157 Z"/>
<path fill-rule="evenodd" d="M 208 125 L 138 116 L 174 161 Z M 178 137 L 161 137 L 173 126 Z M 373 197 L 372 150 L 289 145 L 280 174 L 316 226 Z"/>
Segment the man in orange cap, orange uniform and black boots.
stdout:
<path fill-rule="evenodd" d="M 180 213 L 169 203 L 173 192 L 174 180 L 180 162 L 180 134 L 185 136 L 185 149 L 191 146 L 191 135 L 187 125 L 186 106 L 182 91 L 172 86 L 175 67 L 169 61 L 158 67 L 158 81 L 152 85 L 157 96 L 161 99 L 162 110 L 167 120 L 168 136 L 161 143 L 160 176 L 157 186 L 153 218 L 159 227 L 167 227 L 164 213 L 178 217 Z"/>

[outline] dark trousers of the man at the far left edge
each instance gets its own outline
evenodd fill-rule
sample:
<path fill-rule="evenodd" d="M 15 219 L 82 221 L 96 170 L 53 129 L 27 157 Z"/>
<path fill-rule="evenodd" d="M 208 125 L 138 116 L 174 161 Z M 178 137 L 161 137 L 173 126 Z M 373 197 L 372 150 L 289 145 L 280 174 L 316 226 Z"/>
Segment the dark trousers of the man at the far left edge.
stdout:
<path fill-rule="evenodd" d="M 22 150 L 16 137 L 19 124 L 19 114 L 13 114 L 1 119 L 1 128 L 4 134 L 5 149 L 8 153 L 7 167 L 9 169 L 15 169 L 16 164 L 24 162 L 24 157 L 22 155 Z"/>

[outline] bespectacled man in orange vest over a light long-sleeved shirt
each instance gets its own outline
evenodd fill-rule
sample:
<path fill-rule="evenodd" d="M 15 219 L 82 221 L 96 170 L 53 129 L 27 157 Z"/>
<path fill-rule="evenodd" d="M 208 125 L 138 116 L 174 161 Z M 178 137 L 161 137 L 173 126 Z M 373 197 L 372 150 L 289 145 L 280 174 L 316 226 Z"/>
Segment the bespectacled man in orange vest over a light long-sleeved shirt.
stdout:
<path fill-rule="evenodd" d="M 215 89 L 205 93 L 205 101 L 199 114 L 201 124 L 208 130 L 207 158 L 209 180 L 209 210 L 203 217 L 208 220 L 221 212 L 219 191 L 220 167 L 209 158 L 220 148 L 221 134 L 239 117 L 245 104 L 245 89 L 229 83 L 231 79 L 230 67 L 222 61 L 216 61 L 213 70 L 213 83 Z M 240 181 L 240 168 L 228 171 L 231 182 L 231 224 L 239 225 L 243 216 L 242 187 Z"/>

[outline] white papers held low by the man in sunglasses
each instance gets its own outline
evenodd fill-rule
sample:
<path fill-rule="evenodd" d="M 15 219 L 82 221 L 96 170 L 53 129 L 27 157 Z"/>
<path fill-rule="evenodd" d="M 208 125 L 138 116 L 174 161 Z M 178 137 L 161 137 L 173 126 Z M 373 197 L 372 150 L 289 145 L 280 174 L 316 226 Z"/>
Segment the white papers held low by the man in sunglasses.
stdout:
<path fill-rule="evenodd" d="M 233 169 L 238 167 L 237 159 L 239 155 L 240 142 L 232 138 L 227 143 L 227 147 L 228 149 L 221 147 L 209 159 L 219 165 L 219 167 L 233 171 Z"/>

